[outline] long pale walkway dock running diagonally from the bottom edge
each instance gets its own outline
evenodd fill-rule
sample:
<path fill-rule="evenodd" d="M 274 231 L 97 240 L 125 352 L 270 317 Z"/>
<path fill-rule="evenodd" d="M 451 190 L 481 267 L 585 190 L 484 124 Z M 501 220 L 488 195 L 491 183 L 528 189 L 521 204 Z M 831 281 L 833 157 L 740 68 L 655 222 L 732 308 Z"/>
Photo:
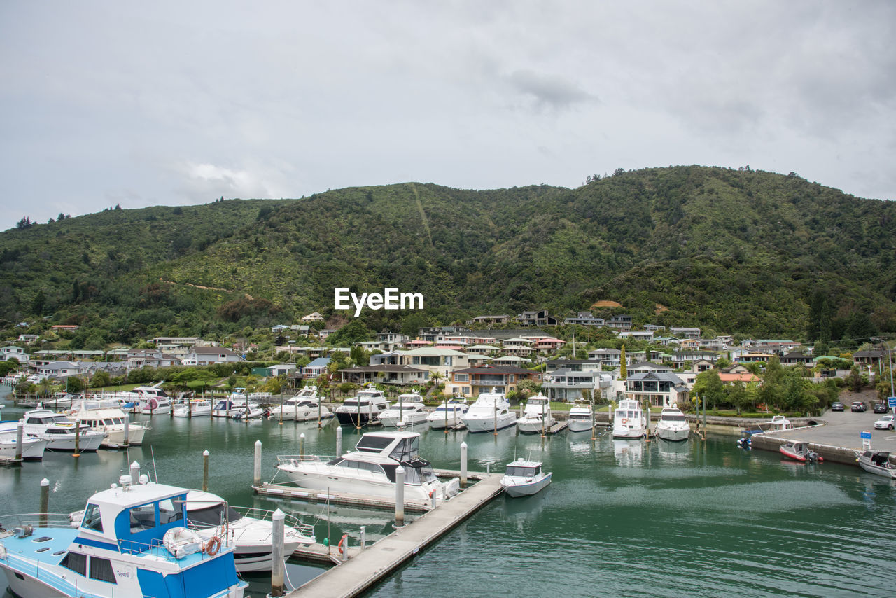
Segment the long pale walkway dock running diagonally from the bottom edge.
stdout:
<path fill-rule="evenodd" d="M 349 549 L 349 559 L 286 594 L 303 596 L 358 596 L 392 574 L 402 563 L 450 532 L 504 491 L 500 473 L 478 473 L 480 481 L 390 533 L 365 550 Z M 329 547 L 331 552 L 339 551 Z"/>

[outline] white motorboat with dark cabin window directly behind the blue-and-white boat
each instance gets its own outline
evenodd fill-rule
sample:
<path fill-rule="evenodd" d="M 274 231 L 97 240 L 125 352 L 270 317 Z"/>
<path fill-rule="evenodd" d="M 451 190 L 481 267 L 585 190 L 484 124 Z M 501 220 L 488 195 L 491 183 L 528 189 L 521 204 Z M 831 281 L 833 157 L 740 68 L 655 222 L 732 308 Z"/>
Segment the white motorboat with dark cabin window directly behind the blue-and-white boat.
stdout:
<path fill-rule="evenodd" d="M 272 511 L 233 507 L 211 492 L 190 490 L 186 495 L 187 527 L 209 541 L 227 536 L 234 546 L 239 573 L 271 570 Z M 286 515 L 284 550 L 287 559 L 299 545 L 314 544 L 314 526 Z"/>

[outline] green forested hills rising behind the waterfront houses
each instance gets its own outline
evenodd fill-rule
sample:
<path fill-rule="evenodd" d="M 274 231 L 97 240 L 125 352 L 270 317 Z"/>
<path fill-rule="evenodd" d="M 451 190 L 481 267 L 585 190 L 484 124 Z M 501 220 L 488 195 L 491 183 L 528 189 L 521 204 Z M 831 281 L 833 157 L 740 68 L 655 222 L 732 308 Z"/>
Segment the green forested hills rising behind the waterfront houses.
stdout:
<path fill-rule="evenodd" d="M 623 307 L 596 315 L 836 340 L 896 332 L 894 238 L 896 203 L 749 169 L 620 170 L 577 189 L 353 187 L 7 230 L 0 317 L 129 342 L 329 314 L 334 287 L 391 286 L 423 293 L 425 315 L 367 311 L 373 330 L 606 300 Z"/>

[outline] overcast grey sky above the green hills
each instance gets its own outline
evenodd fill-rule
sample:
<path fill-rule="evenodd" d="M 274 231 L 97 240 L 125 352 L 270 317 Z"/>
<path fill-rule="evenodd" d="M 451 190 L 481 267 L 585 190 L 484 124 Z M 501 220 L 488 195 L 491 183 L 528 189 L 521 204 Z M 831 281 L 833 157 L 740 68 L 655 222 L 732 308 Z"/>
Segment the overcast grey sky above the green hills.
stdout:
<path fill-rule="evenodd" d="M 0 230 L 616 168 L 896 199 L 896 3 L 0 3 Z"/>

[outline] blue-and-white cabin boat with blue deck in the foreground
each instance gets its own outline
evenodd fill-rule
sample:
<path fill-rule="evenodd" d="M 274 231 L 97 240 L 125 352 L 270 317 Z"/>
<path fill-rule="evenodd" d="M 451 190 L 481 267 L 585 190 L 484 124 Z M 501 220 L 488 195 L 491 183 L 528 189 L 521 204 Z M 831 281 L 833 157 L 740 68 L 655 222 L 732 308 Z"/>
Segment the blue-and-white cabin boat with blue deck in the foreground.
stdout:
<path fill-rule="evenodd" d="M 141 476 L 142 481 L 145 476 Z M 80 522 L 67 516 L 7 516 L 0 568 L 18 596 L 241 598 L 228 536 L 202 542 L 185 527 L 187 490 L 157 483 L 119 485 L 87 500 Z M 8 530 L 8 531 L 6 531 Z"/>

